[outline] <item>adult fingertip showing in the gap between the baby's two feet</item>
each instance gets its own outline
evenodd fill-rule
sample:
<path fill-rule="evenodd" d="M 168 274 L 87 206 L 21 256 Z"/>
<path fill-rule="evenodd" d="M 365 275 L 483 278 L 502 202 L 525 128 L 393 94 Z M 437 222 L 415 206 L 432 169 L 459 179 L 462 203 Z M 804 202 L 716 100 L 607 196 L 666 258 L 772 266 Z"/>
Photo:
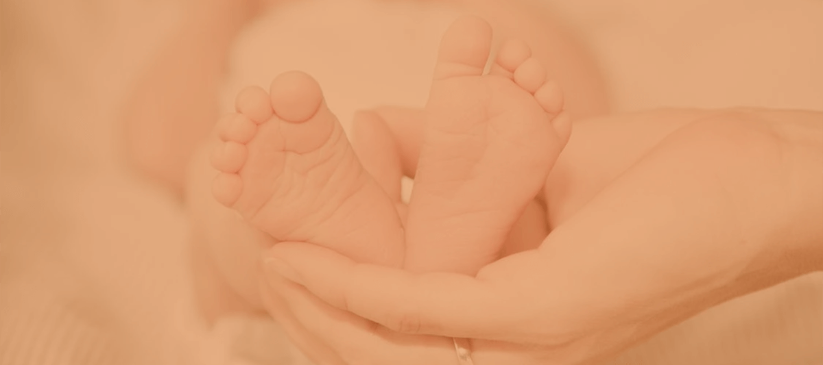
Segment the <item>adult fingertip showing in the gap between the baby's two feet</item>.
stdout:
<path fill-rule="evenodd" d="M 374 112 L 356 113 L 351 130 L 351 146 L 360 164 L 393 201 L 400 202 L 403 173 L 396 137 Z"/>

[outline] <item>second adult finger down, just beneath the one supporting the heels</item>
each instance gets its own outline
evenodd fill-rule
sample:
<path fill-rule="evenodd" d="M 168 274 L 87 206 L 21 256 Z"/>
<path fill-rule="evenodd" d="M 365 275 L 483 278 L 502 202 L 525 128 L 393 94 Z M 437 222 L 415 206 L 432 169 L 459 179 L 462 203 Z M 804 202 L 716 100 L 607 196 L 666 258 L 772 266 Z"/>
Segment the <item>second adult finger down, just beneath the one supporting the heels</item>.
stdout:
<path fill-rule="evenodd" d="M 279 287 L 295 321 L 314 338 L 333 349 L 346 364 L 392 363 L 397 365 L 454 363 L 450 339 L 403 335 L 351 312 L 324 303 L 298 284 Z"/>

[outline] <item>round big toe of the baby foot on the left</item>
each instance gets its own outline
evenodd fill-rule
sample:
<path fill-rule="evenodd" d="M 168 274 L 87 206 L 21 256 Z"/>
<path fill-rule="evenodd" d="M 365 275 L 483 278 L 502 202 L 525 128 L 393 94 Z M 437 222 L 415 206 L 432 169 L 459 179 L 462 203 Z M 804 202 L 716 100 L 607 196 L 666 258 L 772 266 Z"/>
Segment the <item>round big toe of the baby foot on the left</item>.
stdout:
<path fill-rule="evenodd" d="M 272 81 L 269 90 L 272 109 L 286 122 L 305 122 L 314 116 L 323 104 L 320 85 L 305 72 L 282 73 Z"/>

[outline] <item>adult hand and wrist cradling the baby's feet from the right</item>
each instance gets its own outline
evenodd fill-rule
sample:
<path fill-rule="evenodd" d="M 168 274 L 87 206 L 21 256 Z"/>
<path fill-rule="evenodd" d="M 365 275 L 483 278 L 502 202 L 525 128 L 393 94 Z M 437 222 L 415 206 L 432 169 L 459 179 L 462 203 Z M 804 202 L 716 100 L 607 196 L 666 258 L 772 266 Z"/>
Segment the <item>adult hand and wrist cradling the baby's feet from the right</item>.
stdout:
<path fill-rule="evenodd" d="M 819 119 L 661 112 L 581 123 L 547 184 L 556 228 L 537 249 L 472 278 L 281 243 L 268 253 L 269 284 L 291 309 L 287 330 L 329 363 L 451 365 L 449 337 L 474 339 L 478 365 L 608 356 L 821 269 Z M 620 144 L 629 148 L 610 150 Z"/>

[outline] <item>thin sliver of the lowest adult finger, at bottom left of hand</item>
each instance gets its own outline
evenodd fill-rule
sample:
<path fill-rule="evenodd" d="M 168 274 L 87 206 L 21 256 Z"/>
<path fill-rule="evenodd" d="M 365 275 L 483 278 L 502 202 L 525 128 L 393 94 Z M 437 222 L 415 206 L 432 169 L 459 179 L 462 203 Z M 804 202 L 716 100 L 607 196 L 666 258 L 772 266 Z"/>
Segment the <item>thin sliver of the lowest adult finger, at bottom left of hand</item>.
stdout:
<path fill-rule="evenodd" d="M 282 278 L 269 277 L 268 279 L 266 283 L 260 285 L 263 304 L 272 318 L 286 331 L 291 343 L 313 363 L 346 365 L 333 349 L 306 330 L 291 312 L 282 294 L 287 291 L 288 285 L 295 286 L 295 284 Z"/>

